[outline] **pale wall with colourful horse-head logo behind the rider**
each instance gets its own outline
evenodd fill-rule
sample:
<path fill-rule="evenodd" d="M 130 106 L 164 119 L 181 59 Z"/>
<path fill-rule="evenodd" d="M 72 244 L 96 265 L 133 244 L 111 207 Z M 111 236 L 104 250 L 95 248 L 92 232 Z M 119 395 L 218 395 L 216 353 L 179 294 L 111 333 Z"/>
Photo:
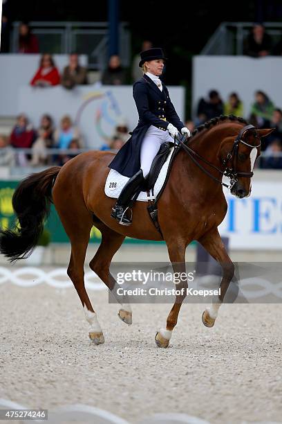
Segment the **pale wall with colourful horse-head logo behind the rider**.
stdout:
<path fill-rule="evenodd" d="M 184 118 L 185 89 L 169 87 L 169 94 L 180 118 Z M 53 116 L 56 125 L 68 114 L 79 126 L 89 148 L 100 148 L 121 119 L 125 118 L 130 131 L 138 123 L 131 86 L 84 85 L 71 91 L 62 87 L 22 87 L 17 112 L 25 112 L 35 127 L 42 114 Z"/>

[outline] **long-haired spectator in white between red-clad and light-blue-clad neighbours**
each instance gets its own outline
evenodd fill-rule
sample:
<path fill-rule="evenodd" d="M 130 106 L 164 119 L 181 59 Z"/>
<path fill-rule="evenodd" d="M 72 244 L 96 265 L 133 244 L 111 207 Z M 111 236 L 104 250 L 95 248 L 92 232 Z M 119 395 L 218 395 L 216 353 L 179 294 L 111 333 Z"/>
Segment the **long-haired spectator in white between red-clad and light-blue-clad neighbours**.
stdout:
<path fill-rule="evenodd" d="M 52 148 L 54 142 L 53 120 L 50 115 L 41 117 L 40 127 L 37 131 L 37 139 L 32 144 L 32 160 L 30 165 L 37 166 L 39 164 L 50 163 L 50 157 L 47 149 Z"/>

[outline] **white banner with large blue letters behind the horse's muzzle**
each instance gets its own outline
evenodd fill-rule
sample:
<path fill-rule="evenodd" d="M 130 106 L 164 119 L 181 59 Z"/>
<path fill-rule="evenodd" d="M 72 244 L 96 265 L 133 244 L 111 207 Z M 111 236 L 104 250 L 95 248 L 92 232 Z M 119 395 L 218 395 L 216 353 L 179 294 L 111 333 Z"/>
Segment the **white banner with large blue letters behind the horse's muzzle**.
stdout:
<path fill-rule="evenodd" d="M 219 231 L 230 247 L 282 249 L 282 171 L 254 170 L 252 194 L 245 199 L 224 191 L 228 211 Z"/>

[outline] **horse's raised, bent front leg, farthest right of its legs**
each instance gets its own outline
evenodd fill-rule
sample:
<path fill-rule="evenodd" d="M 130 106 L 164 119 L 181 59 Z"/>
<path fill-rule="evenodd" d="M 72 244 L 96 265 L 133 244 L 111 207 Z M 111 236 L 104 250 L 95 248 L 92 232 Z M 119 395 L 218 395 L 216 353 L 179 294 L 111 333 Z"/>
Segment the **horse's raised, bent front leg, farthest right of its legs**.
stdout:
<path fill-rule="evenodd" d="M 227 251 L 223 245 L 223 240 L 221 240 L 218 233 L 217 227 L 209 231 L 203 238 L 198 240 L 200 244 L 205 247 L 209 254 L 218 262 L 223 270 L 223 278 L 220 282 L 220 295 L 218 296 L 218 301 L 212 303 L 210 308 L 206 308 L 202 315 L 203 324 L 206 327 L 213 327 L 216 317 L 218 316 L 218 310 L 229 287 L 230 281 L 234 276 L 234 263 L 229 258 Z"/>

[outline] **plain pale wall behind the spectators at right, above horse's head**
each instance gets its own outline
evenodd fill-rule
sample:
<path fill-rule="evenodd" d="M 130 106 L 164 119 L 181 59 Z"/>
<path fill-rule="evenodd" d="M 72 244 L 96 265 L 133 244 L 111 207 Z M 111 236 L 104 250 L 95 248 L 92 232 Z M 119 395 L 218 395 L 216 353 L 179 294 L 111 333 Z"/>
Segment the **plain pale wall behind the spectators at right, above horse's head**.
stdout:
<path fill-rule="evenodd" d="M 246 56 L 194 56 L 193 112 L 198 100 L 211 89 L 220 92 L 223 101 L 236 91 L 243 100 L 244 116 L 250 115 L 256 90 L 265 91 L 277 107 L 282 107 L 282 57 L 248 58 Z"/>

